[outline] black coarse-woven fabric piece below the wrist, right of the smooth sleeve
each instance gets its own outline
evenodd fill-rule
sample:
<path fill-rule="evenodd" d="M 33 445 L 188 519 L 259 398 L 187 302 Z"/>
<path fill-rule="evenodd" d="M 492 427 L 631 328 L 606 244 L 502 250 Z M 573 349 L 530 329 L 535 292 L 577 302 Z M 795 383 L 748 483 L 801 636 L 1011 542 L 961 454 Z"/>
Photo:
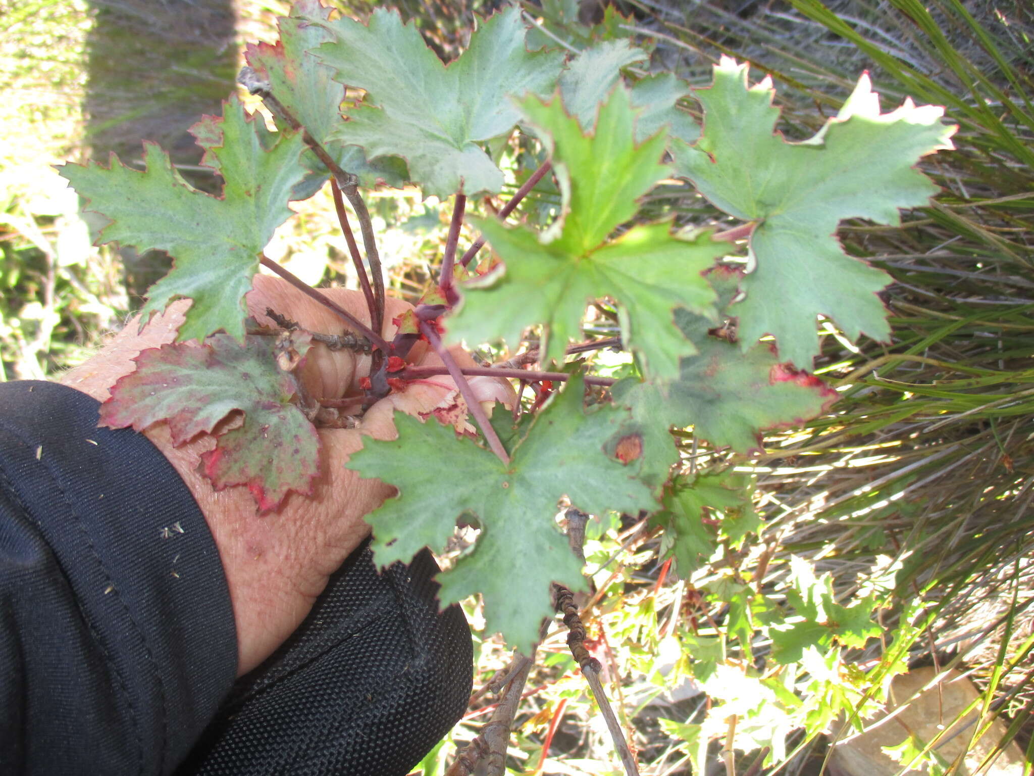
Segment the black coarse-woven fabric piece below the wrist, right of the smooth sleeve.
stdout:
<path fill-rule="evenodd" d="M 473 682 L 463 613 L 437 613 L 426 550 L 377 575 L 365 546 L 303 625 L 242 678 L 177 776 L 403 776 Z"/>

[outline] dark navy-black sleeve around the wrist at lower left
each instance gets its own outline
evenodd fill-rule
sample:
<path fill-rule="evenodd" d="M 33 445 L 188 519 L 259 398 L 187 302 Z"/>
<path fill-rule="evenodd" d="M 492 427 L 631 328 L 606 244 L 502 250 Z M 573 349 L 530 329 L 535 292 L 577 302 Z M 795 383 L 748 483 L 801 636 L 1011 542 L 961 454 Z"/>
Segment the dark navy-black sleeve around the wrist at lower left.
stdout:
<path fill-rule="evenodd" d="M 168 774 L 234 683 L 208 526 L 96 400 L 0 384 L 0 774 Z"/>

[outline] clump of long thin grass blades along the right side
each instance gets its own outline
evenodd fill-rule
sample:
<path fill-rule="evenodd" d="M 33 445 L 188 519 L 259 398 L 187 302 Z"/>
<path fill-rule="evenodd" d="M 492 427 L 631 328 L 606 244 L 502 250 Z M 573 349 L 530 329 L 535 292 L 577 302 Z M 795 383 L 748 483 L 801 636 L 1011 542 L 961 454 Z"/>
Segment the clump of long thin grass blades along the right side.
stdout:
<path fill-rule="evenodd" d="M 929 603 L 906 659 L 964 664 L 983 690 L 980 727 L 1004 716 L 1034 743 L 1034 14 L 974 16 L 959 0 L 785 5 L 634 0 L 636 26 L 706 83 L 719 53 L 781 86 L 785 119 L 814 130 L 857 73 L 890 101 L 941 103 L 956 150 L 923 172 L 942 186 L 901 228 L 844 225 L 849 252 L 894 278 L 893 340 L 845 347 L 826 326 L 818 371 L 842 398 L 807 432 L 768 440 L 758 461 L 774 559 L 813 560 L 849 598 L 859 568 L 904 564 L 893 599 Z M 768 557 L 765 562 L 769 562 Z M 768 580 L 778 583 L 778 564 Z M 883 621 L 888 628 L 894 617 Z M 856 655 L 876 658 L 884 646 Z M 794 768 L 802 767 L 798 757 Z"/>

